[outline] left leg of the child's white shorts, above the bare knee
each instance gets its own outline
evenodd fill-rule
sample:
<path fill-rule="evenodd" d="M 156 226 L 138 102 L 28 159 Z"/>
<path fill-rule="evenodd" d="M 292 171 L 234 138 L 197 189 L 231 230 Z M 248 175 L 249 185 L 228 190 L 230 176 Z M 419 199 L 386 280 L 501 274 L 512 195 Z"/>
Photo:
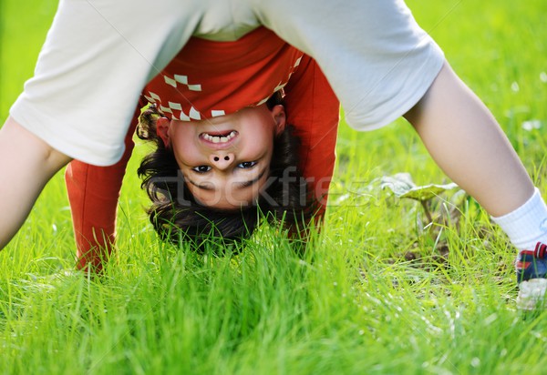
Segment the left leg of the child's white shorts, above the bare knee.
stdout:
<path fill-rule="evenodd" d="M 114 164 L 142 88 L 199 23 L 200 12 L 183 8 L 179 0 L 61 0 L 10 115 L 69 157 Z"/>

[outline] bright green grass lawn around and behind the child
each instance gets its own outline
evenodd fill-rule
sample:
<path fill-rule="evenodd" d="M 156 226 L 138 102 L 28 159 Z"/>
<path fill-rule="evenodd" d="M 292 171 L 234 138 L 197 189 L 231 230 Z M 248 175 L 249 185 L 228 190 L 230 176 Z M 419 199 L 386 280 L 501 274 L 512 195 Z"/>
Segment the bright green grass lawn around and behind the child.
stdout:
<path fill-rule="evenodd" d="M 547 3 L 408 5 L 546 192 Z M 54 0 L 0 2 L 2 121 L 55 9 Z M 60 173 L 0 254 L 0 373 L 547 371 L 547 313 L 516 309 L 514 249 L 488 215 L 463 198 L 458 220 L 423 228 L 418 202 L 379 187 L 378 178 L 399 172 L 418 185 L 449 182 L 403 121 L 371 133 L 342 125 L 332 205 L 304 258 L 275 228 L 234 257 L 160 243 L 134 173 L 142 148 L 104 278 L 67 272 L 75 247 Z M 448 200 L 432 202 L 434 213 L 447 208 Z"/>

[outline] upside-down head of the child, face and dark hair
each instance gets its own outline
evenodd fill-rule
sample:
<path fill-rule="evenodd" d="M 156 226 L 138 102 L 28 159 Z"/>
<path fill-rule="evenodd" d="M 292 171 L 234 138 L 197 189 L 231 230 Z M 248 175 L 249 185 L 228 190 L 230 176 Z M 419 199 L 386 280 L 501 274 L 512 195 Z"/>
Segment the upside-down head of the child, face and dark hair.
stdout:
<path fill-rule="evenodd" d="M 300 141 L 285 126 L 282 103 L 276 94 L 263 106 L 190 123 L 161 117 L 154 106 L 143 112 L 138 135 L 156 149 L 139 175 L 160 237 L 246 238 L 258 209 L 289 228 L 304 224 L 310 209 L 297 167 Z"/>

